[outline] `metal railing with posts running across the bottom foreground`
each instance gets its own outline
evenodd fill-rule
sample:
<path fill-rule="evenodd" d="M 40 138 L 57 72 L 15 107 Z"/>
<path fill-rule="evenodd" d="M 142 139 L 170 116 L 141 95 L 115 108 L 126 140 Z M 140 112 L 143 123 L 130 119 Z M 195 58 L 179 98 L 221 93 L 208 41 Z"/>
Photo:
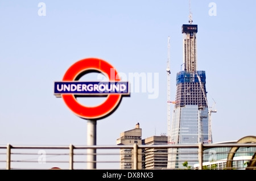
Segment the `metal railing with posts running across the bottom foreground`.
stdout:
<path fill-rule="evenodd" d="M 240 151 L 234 153 L 232 159 L 227 159 L 232 148 L 253 148 L 251 151 Z M 222 148 L 222 149 L 221 149 Z M 224 149 L 225 148 L 225 149 Z M 88 153 L 86 150 L 96 150 L 97 167 L 95 169 L 170 169 L 168 163 L 173 162 L 167 159 L 168 149 L 188 149 L 183 153 L 186 155 L 197 155 L 196 160 L 180 159 L 182 169 L 256 169 L 256 144 L 198 144 L 198 145 L 113 145 L 113 146 L 0 146 L 0 169 L 69 169 L 85 170 Z M 195 151 L 191 151 L 191 149 Z M 123 150 L 123 152 L 121 151 Z M 209 151 L 212 156 L 209 156 Z M 228 150 L 228 151 L 226 151 Z M 181 153 L 180 153 L 181 154 Z M 218 159 L 218 155 L 225 155 L 225 158 Z M 237 155 L 236 155 L 237 154 Z M 186 157 L 184 157 L 186 158 Z M 189 157 L 187 157 L 189 158 Z M 243 163 L 242 167 L 235 166 L 237 162 Z M 193 162 L 195 165 L 186 165 Z M 209 163 L 212 162 L 210 165 Z M 227 163 L 233 163 L 232 167 L 226 167 Z M 235 163 L 236 162 L 236 163 Z M 208 165 L 207 165 L 208 164 Z M 222 164 L 219 166 L 219 164 Z M 241 165 L 241 164 L 240 164 Z M 174 168 L 175 169 L 175 168 Z"/>

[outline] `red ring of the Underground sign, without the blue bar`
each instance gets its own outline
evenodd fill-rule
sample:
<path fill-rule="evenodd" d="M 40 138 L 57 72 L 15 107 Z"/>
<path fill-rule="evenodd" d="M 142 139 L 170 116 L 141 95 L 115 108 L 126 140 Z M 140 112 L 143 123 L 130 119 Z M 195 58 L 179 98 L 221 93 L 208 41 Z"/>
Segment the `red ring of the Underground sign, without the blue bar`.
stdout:
<path fill-rule="evenodd" d="M 77 61 L 66 71 L 63 81 L 75 81 L 85 71 L 93 70 L 105 74 L 109 78 L 109 81 L 120 81 L 114 67 L 98 58 L 85 58 Z M 111 75 L 111 73 L 114 73 L 114 75 Z M 112 113 L 121 101 L 121 96 L 121 94 L 109 94 L 105 102 L 94 107 L 86 107 L 80 104 L 73 94 L 63 94 L 62 98 L 68 108 L 77 116 L 84 119 L 97 120 Z"/>

